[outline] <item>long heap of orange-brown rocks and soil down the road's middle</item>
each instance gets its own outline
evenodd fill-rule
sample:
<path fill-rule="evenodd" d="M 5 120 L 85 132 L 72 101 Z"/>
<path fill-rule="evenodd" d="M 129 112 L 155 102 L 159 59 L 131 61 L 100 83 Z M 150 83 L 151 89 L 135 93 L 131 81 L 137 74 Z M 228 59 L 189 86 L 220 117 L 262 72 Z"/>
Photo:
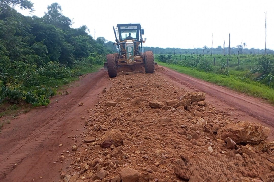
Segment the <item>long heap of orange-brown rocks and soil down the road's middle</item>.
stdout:
<path fill-rule="evenodd" d="M 66 182 L 271 181 L 269 129 L 231 119 L 155 74 L 109 81 L 87 111 L 86 132 L 73 138 Z"/>

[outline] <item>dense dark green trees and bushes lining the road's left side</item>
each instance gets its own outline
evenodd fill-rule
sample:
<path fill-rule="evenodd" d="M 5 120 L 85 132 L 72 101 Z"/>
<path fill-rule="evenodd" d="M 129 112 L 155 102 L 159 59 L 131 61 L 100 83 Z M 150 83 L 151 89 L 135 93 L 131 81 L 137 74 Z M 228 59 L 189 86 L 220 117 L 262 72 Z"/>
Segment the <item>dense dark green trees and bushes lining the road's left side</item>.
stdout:
<path fill-rule="evenodd" d="M 58 3 L 41 18 L 23 16 L 14 5 L 33 7 L 28 0 L 0 2 L 0 103 L 47 105 L 57 86 L 102 64 L 111 52 L 105 39 L 94 40 L 86 26 L 71 28 Z"/>

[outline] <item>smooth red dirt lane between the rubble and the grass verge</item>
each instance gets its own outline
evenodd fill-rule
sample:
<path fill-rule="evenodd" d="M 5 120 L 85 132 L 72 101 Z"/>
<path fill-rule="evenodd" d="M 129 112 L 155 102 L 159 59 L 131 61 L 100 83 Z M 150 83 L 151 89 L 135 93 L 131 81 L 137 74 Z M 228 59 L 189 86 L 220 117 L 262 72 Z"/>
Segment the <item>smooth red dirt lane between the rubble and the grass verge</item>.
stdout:
<path fill-rule="evenodd" d="M 159 72 L 176 84 L 183 85 L 190 91 L 206 92 L 207 100 L 217 109 L 226 110 L 241 119 L 260 122 L 271 128 L 269 138 L 274 138 L 274 107 L 261 99 L 237 93 L 206 81 L 192 78 L 169 68 L 159 66 Z"/>

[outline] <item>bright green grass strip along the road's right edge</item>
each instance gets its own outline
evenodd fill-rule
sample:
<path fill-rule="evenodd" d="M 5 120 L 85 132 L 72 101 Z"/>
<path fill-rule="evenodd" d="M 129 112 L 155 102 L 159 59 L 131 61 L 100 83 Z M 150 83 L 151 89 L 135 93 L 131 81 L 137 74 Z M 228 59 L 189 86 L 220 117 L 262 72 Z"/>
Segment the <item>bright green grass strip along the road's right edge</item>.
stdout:
<path fill-rule="evenodd" d="M 227 88 L 230 88 L 242 93 L 246 93 L 251 96 L 266 99 L 271 104 L 274 104 L 274 89 L 270 89 L 269 87 L 261 83 L 258 83 L 256 81 L 252 81 L 248 78 L 241 79 L 239 78 L 239 76 L 241 76 L 242 73 L 238 71 L 232 71 L 234 72 L 235 75 L 231 74 L 230 76 L 225 76 L 225 75 L 218 75 L 214 73 L 197 71 L 196 69 L 174 65 L 174 64 L 166 64 L 161 62 L 158 62 L 158 64 L 161 66 L 169 67 L 180 73 L 190 75 L 194 78 L 199 78 L 201 80 L 205 80 L 220 86 L 225 86 Z"/>

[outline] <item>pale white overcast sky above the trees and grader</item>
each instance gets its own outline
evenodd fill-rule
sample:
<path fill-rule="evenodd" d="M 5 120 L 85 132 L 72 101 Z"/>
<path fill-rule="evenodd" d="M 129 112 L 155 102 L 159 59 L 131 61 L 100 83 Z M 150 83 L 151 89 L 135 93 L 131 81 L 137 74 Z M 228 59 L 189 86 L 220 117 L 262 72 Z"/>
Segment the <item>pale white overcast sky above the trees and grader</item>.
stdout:
<path fill-rule="evenodd" d="M 264 49 L 267 12 L 267 48 L 274 49 L 273 0 L 31 0 L 34 13 L 42 17 L 47 6 L 58 2 L 73 28 L 86 25 L 94 38 L 115 42 L 112 26 L 141 23 L 145 46 L 162 48 L 231 47 L 246 43 L 247 48 Z"/>

